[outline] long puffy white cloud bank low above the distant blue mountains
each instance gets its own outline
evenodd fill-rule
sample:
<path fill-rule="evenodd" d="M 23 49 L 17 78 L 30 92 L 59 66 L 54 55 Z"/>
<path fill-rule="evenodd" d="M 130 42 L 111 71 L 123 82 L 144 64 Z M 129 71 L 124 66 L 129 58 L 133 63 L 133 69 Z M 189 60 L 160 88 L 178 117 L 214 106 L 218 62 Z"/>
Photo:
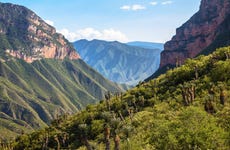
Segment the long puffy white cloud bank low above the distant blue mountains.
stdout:
<path fill-rule="evenodd" d="M 73 42 L 80 39 L 100 39 L 106 41 L 120 41 L 127 42 L 128 38 L 124 33 L 113 28 L 104 29 L 102 31 L 96 30 L 94 28 L 84 28 L 76 32 L 70 32 L 68 29 L 62 29 L 58 31 L 62 33 L 69 41 Z"/>

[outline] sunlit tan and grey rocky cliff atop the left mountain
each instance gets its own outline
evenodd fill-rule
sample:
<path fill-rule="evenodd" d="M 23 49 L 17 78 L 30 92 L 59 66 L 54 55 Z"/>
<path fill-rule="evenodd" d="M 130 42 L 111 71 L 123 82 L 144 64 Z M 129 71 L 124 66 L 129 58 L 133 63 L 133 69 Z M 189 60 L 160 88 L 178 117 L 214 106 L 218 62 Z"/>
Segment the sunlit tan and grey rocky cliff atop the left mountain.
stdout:
<path fill-rule="evenodd" d="M 1 51 L 27 62 L 41 58 L 80 58 L 55 28 L 18 5 L 0 3 L 0 39 Z"/>

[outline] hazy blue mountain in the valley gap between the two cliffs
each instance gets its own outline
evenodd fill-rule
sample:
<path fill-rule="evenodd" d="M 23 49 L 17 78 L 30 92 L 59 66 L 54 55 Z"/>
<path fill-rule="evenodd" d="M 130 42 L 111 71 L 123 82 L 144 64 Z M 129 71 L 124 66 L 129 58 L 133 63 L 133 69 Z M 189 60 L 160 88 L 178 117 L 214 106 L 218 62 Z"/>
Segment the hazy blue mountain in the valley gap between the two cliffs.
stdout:
<path fill-rule="evenodd" d="M 137 84 L 159 66 L 161 50 L 158 49 L 100 40 L 79 40 L 74 46 L 87 64 L 118 83 Z"/>

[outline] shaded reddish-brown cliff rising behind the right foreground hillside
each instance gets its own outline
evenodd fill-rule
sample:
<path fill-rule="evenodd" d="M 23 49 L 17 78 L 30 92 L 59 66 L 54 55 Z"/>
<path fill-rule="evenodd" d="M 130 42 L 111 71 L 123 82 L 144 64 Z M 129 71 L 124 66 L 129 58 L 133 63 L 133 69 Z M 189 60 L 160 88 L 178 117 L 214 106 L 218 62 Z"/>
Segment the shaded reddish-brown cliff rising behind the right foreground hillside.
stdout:
<path fill-rule="evenodd" d="M 229 0 L 202 0 L 200 10 L 164 45 L 160 67 L 183 63 L 186 58 L 195 57 L 219 35 L 230 31 L 229 18 Z"/>

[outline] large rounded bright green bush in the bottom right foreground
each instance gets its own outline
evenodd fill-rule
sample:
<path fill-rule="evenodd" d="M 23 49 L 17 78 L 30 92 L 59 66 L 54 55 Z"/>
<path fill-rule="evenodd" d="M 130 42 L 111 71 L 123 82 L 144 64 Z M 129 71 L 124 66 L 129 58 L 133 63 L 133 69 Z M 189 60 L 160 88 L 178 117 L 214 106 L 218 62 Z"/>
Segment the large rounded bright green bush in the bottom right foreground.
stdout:
<path fill-rule="evenodd" d="M 200 108 L 189 106 L 173 119 L 167 111 L 157 114 L 152 127 L 151 143 L 156 149 L 225 149 L 225 131 L 214 116 Z"/>

